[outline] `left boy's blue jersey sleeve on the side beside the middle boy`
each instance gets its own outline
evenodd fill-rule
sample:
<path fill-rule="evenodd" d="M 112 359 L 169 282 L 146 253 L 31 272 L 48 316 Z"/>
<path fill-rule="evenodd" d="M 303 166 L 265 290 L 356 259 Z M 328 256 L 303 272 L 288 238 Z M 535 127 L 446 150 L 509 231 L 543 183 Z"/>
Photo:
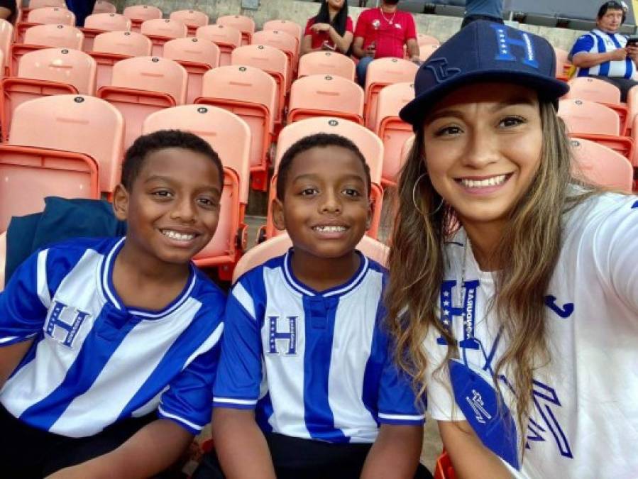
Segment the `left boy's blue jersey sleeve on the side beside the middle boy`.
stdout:
<path fill-rule="evenodd" d="M 221 331 L 216 327 L 195 351 L 195 358 L 172 380 L 160 398 L 158 416 L 180 424 L 191 434 L 199 434 L 211 417 L 211 389 L 219 364 Z"/>

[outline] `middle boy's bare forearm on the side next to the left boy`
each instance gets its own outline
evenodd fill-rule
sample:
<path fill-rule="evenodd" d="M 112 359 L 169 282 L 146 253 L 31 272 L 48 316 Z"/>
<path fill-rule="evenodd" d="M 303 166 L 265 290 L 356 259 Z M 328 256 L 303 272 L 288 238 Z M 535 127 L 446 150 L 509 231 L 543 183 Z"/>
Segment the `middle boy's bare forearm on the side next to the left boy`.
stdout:
<path fill-rule="evenodd" d="M 214 408 L 212 432 L 226 478 L 275 479 L 268 443 L 255 422 L 253 409 Z"/>

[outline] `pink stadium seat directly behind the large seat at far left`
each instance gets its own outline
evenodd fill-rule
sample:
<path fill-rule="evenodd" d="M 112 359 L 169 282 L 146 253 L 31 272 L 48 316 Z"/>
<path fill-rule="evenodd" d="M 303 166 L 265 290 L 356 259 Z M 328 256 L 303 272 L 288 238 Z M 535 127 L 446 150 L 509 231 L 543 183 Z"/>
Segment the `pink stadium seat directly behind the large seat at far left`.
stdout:
<path fill-rule="evenodd" d="M 11 119 L 25 101 L 55 94 L 95 93 L 95 60 L 79 50 L 44 48 L 20 59 L 18 75 L 2 79 L 2 138 L 9 138 Z"/>

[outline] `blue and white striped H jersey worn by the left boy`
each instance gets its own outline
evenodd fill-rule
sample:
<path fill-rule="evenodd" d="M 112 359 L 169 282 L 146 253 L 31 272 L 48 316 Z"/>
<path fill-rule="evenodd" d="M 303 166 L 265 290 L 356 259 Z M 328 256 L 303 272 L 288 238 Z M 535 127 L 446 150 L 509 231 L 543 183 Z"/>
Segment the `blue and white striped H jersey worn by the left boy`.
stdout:
<path fill-rule="evenodd" d="M 0 346 L 34 338 L 0 390 L 23 422 L 70 437 L 155 409 L 193 434 L 209 422 L 224 293 L 191 267 L 162 311 L 126 308 L 112 282 L 123 242 L 40 250 L 0 294 Z"/>

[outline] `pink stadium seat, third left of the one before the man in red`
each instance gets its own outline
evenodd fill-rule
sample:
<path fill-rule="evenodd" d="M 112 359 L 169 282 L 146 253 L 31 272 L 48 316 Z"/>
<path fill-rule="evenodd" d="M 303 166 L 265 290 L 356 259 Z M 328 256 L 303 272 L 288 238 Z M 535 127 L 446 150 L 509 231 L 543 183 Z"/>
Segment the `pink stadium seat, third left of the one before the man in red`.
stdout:
<path fill-rule="evenodd" d="M 202 77 L 219 66 L 219 47 L 205 38 L 175 38 L 164 44 L 164 57 L 175 60 L 188 72 L 186 103 L 202 95 Z"/>

